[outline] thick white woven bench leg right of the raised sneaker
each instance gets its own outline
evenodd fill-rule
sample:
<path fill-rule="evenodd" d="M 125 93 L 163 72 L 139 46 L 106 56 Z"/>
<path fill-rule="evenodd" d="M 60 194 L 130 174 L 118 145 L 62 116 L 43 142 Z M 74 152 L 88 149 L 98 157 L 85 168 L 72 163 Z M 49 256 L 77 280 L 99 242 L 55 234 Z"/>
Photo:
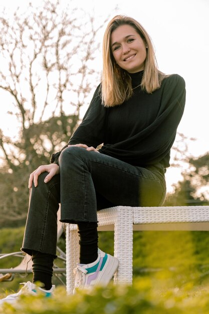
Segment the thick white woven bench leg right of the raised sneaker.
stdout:
<path fill-rule="evenodd" d="M 132 284 L 133 277 L 133 211 L 120 208 L 115 223 L 114 256 L 119 260 L 115 284 Z"/>

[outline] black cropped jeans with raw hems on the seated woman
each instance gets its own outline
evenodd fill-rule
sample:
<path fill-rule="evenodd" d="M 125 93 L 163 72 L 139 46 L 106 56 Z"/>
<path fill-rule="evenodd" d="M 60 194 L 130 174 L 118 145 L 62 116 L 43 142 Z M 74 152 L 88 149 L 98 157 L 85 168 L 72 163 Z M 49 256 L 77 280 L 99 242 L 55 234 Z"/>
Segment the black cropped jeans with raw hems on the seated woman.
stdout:
<path fill-rule="evenodd" d="M 71 146 L 59 158 L 60 175 L 32 187 L 22 250 L 56 256 L 57 211 L 61 221 L 97 222 L 97 210 L 112 206 L 160 206 L 166 186 L 163 167 L 136 167 L 95 151 Z"/>

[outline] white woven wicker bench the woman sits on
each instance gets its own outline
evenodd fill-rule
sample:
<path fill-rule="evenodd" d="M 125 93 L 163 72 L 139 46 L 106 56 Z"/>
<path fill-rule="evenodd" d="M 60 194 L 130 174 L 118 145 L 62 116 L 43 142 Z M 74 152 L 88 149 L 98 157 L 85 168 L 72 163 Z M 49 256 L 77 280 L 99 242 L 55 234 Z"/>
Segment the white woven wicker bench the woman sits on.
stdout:
<path fill-rule="evenodd" d="M 129 207 L 98 212 L 98 231 L 114 230 L 114 256 L 119 266 L 114 283 L 132 284 L 133 230 L 209 230 L 209 206 Z M 77 225 L 66 224 L 66 288 L 74 288 L 73 269 L 79 260 Z"/>

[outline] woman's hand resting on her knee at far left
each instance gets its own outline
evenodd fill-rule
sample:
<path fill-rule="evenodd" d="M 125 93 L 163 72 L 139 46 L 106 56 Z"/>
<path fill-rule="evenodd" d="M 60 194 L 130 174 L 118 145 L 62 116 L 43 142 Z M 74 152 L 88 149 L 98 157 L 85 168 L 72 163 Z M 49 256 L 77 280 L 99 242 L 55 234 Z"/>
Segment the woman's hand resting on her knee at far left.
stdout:
<path fill-rule="evenodd" d="M 32 172 L 32 174 L 30 175 L 29 184 L 28 184 L 29 189 L 32 188 L 33 182 L 34 182 L 35 188 L 38 186 L 38 178 L 43 172 L 49 173 L 44 180 L 44 182 L 47 183 L 52 179 L 52 177 L 60 173 L 60 169 L 57 164 L 40 166 L 39 168 L 34 170 L 34 172 Z"/>

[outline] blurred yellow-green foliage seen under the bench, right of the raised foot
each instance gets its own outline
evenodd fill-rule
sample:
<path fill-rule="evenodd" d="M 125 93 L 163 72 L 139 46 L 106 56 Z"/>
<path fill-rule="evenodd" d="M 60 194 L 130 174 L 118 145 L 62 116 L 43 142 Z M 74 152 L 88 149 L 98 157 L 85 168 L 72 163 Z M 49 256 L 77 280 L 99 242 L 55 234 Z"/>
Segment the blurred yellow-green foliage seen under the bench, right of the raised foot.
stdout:
<path fill-rule="evenodd" d="M 133 277 L 155 276 L 167 288 L 189 281 L 207 285 L 208 242 L 208 233 L 203 231 L 135 231 Z M 113 232 L 99 233 L 99 247 L 113 254 Z"/>

